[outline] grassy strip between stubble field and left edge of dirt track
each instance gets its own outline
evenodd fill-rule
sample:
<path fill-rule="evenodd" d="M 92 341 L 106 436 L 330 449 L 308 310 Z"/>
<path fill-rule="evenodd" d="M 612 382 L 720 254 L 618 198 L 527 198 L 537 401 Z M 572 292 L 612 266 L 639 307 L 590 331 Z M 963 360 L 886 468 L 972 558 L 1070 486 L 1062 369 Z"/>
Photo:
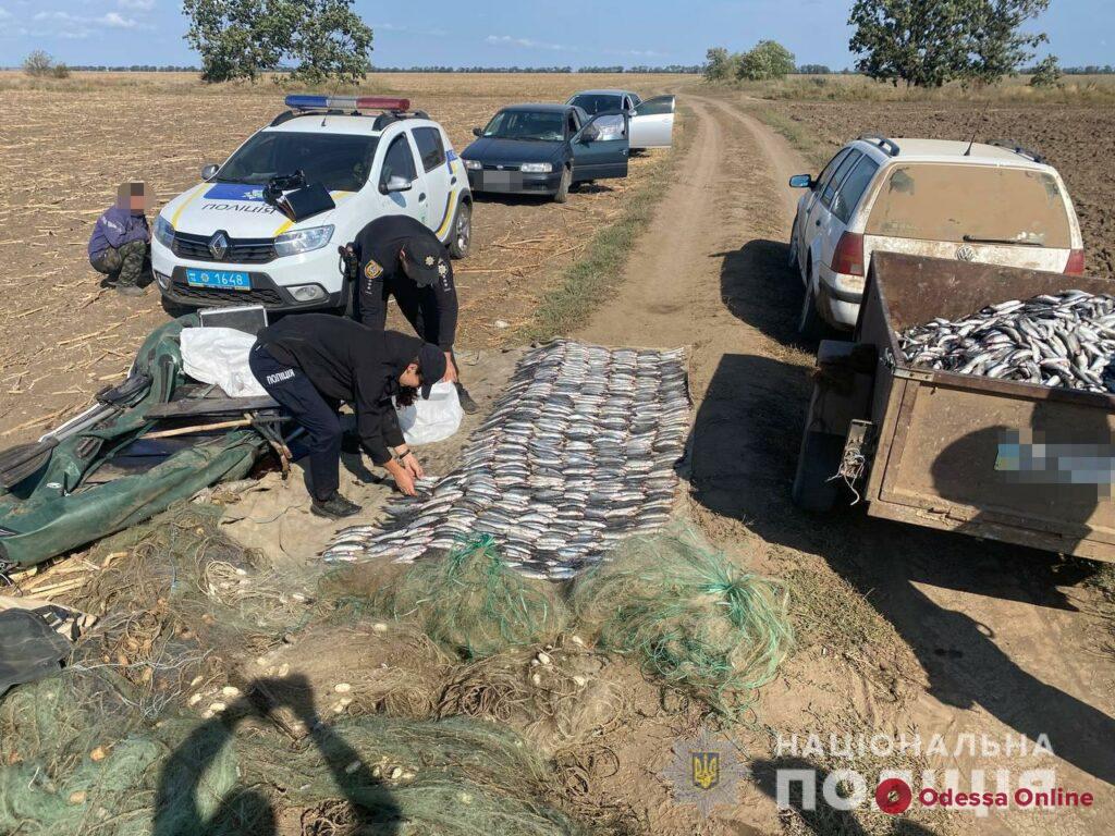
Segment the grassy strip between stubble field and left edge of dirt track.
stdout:
<path fill-rule="evenodd" d="M 670 153 L 651 176 L 628 195 L 619 220 L 600 230 L 584 254 L 565 269 L 558 285 L 539 300 L 533 321 L 520 333 L 524 341 L 549 340 L 569 333 L 619 284 L 631 247 L 650 223 L 678 162 L 692 140 L 692 111 L 680 108 L 679 113 L 681 118 L 673 125 Z"/>

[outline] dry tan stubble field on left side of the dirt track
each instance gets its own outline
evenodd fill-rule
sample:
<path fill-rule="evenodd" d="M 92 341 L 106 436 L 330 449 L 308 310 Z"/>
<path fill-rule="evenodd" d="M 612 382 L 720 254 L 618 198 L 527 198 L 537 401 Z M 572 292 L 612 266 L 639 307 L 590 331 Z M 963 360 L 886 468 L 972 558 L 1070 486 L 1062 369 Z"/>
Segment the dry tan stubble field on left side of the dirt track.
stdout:
<path fill-rule="evenodd" d="M 361 89 L 409 96 L 459 150 L 501 106 L 564 100 L 579 89 L 631 86 L 643 95 L 675 76 L 404 75 Z M 0 447 L 33 438 L 97 389 L 120 379 L 140 340 L 164 321 L 154 290 L 122 299 L 86 260 L 97 216 L 122 181 L 152 184 L 162 206 L 195 184 L 282 107 L 283 91 L 200 84 L 190 74 L 75 74 L 36 82 L 0 74 Z M 456 265 L 466 349 L 503 344 L 531 321 L 537 300 L 594 232 L 613 223 L 624 195 L 661 152 L 637 157 L 631 176 L 575 194 L 478 201 L 474 249 Z M 495 327 L 502 319 L 506 329 Z"/>

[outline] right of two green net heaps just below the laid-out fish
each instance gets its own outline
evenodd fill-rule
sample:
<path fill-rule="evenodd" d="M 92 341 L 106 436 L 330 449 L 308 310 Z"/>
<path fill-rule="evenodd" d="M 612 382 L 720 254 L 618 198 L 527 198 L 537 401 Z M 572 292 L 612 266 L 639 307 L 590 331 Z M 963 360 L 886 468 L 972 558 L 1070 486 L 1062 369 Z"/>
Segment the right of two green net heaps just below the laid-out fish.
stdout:
<path fill-rule="evenodd" d="M 638 659 L 729 718 L 774 678 L 793 643 L 780 585 L 683 527 L 626 541 L 572 596 L 602 650 Z"/>

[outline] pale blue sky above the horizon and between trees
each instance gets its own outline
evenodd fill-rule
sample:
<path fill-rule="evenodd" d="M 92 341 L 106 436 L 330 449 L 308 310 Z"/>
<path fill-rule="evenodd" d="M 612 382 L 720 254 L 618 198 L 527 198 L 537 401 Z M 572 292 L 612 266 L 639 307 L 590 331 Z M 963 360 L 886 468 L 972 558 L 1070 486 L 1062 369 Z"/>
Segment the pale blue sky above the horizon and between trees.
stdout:
<path fill-rule="evenodd" d="M 372 64 L 564 66 L 700 64 L 711 46 L 773 38 L 798 64 L 852 65 L 851 0 L 356 0 Z M 1115 64 L 1115 0 L 1053 0 L 1036 26 L 1063 66 Z M 196 65 L 173 0 L 0 0 L 0 66 L 32 49 L 71 65 Z M 1044 54 L 1044 52 L 1043 52 Z"/>

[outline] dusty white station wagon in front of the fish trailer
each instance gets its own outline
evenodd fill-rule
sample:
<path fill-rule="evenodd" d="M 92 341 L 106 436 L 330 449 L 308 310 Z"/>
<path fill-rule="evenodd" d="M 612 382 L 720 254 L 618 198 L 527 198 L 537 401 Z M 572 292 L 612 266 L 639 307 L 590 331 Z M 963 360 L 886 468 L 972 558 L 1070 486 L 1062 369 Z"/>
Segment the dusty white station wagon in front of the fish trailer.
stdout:
<path fill-rule="evenodd" d="M 1080 274 L 1080 224 L 1060 175 L 1012 144 L 862 136 L 797 203 L 791 265 L 805 284 L 798 329 L 855 327 L 880 251 Z"/>

